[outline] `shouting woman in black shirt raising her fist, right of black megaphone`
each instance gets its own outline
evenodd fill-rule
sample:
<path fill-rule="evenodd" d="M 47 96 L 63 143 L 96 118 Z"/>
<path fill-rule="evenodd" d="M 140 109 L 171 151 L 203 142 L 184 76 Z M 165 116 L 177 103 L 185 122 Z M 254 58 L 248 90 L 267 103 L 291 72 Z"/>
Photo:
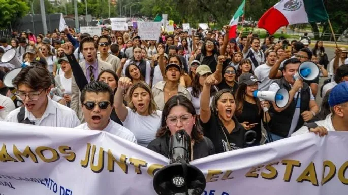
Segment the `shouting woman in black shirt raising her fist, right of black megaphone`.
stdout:
<path fill-rule="evenodd" d="M 231 90 L 218 91 L 209 106 L 210 89 L 216 83 L 215 75 L 211 74 L 202 90 L 199 117 L 204 135 L 213 142 L 216 153 L 244 148 L 246 131 L 234 116 L 236 103 Z"/>

